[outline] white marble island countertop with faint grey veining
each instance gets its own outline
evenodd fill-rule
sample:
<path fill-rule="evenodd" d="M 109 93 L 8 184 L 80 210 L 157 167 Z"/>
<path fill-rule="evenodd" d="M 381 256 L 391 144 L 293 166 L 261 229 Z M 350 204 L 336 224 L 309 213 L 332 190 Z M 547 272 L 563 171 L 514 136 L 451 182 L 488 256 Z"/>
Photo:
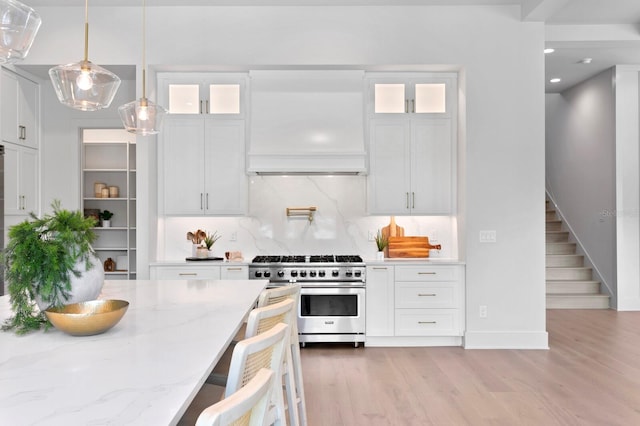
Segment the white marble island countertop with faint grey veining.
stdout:
<path fill-rule="evenodd" d="M 105 281 L 130 306 L 104 334 L 0 332 L 0 425 L 175 424 L 266 283 Z"/>

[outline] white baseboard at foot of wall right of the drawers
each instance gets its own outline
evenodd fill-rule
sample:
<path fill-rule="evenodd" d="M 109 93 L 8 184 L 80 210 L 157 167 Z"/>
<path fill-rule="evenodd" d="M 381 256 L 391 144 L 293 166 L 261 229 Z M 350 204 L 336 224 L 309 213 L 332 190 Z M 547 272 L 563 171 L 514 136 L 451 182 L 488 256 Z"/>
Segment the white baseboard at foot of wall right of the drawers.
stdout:
<path fill-rule="evenodd" d="M 465 349 L 549 349 L 546 331 L 467 331 Z"/>

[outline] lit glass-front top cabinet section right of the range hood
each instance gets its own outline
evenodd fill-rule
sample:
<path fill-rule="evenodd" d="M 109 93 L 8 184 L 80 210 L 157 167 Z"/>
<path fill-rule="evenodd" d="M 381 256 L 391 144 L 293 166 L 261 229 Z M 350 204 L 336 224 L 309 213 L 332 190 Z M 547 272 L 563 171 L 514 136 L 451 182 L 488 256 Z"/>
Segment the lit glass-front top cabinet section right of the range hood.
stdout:
<path fill-rule="evenodd" d="M 448 118 L 455 105 L 455 75 L 445 73 L 369 73 L 371 118 Z"/>

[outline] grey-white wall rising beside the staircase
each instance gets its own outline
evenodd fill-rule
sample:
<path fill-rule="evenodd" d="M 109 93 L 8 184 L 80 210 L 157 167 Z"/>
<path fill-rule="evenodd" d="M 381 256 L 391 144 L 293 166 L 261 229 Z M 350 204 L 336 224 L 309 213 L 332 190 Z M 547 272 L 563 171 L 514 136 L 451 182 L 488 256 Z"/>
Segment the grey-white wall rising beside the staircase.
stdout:
<path fill-rule="evenodd" d="M 615 306 L 613 69 L 546 95 L 546 185 Z"/>

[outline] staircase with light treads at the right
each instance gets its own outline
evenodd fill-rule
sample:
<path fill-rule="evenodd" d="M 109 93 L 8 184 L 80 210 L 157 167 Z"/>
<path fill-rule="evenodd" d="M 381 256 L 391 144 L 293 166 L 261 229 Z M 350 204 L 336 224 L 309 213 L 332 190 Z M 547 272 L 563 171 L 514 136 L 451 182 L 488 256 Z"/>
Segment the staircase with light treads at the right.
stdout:
<path fill-rule="evenodd" d="M 553 205 L 547 201 L 547 309 L 609 309 L 609 296 L 600 292 L 584 256 L 576 254 Z"/>

